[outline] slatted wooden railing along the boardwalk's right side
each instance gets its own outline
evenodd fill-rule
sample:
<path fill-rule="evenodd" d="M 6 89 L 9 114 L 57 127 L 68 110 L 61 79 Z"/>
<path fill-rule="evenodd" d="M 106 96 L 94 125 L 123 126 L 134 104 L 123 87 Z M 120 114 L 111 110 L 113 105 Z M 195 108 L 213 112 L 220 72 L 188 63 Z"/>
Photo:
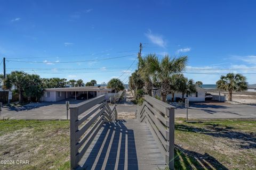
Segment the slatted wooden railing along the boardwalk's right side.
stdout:
<path fill-rule="evenodd" d="M 142 106 L 137 105 L 135 117 L 147 122 L 169 169 L 174 169 L 174 109 L 175 107 L 146 95 Z"/>

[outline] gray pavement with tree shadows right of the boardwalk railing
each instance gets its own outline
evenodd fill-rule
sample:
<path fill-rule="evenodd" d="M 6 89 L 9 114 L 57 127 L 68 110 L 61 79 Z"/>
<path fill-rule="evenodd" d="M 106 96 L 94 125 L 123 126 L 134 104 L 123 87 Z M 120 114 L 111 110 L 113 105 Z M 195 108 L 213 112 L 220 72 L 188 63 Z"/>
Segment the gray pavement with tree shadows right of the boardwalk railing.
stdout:
<path fill-rule="evenodd" d="M 176 117 L 186 117 L 186 108 L 177 106 Z M 189 118 L 256 118 L 256 105 L 229 104 L 206 101 L 190 104 Z"/>

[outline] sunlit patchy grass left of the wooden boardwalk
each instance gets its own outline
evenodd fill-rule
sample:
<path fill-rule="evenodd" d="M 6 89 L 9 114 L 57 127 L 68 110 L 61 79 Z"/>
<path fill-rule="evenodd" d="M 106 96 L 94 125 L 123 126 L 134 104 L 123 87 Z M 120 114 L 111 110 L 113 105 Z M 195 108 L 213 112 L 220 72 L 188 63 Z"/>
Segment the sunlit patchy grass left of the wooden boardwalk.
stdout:
<path fill-rule="evenodd" d="M 29 165 L 0 169 L 70 169 L 69 121 L 0 121 L 0 159 Z"/>

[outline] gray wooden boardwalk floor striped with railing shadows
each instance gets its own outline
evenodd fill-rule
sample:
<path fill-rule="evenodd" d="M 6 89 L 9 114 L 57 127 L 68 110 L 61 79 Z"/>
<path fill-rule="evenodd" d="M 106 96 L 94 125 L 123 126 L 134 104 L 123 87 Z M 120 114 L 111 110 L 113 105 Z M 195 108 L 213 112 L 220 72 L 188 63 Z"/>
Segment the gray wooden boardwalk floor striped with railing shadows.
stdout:
<path fill-rule="evenodd" d="M 106 122 L 77 169 L 164 169 L 166 163 L 147 123 Z"/>

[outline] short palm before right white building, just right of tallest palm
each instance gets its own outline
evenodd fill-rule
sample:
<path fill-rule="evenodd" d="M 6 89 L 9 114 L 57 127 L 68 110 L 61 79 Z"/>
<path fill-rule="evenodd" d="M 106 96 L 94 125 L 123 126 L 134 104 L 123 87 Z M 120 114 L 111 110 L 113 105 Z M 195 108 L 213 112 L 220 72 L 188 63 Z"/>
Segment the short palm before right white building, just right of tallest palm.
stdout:
<path fill-rule="evenodd" d="M 196 93 L 196 84 L 194 83 L 193 79 L 185 78 L 183 74 L 179 79 L 179 87 L 178 91 L 182 93 L 182 100 L 184 100 L 184 95 L 191 95 Z"/>

